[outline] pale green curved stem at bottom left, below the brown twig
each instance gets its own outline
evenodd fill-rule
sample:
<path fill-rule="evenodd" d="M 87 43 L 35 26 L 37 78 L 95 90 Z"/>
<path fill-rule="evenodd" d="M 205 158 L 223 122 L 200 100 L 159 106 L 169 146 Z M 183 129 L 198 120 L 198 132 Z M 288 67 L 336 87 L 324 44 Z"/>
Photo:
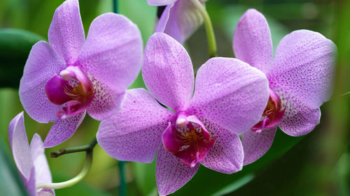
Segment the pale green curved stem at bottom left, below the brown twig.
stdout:
<path fill-rule="evenodd" d="M 73 186 L 79 181 L 81 181 L 87 175 L 87 173 L 90 171 L 91 165 L 92 165 L 92 150 L 88 150 L 86 151 L 85 165 L 77 176 L 75 176 L 73 179 L 70 179 L 69 181 L 64 181 L 60 183 L 39 183 L 36 185 L 36 189 L 38 188 L 59 189 L 59 188 L 67 188 L 69 186 Z"/>

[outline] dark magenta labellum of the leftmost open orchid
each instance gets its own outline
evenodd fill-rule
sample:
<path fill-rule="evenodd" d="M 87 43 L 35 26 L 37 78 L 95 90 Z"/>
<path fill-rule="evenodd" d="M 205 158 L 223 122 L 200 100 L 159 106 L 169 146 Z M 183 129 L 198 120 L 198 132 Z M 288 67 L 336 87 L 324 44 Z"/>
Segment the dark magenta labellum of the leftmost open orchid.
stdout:
<path fill-rule="evenodd" d="M 57 112 L 57 116 L 64 118 L 86 110 L 92 101 L 94 89 L 83 70 L 69 66 L 46 82 L 45 93 L 55 105 L 66 103 L 62 111 Z"/>

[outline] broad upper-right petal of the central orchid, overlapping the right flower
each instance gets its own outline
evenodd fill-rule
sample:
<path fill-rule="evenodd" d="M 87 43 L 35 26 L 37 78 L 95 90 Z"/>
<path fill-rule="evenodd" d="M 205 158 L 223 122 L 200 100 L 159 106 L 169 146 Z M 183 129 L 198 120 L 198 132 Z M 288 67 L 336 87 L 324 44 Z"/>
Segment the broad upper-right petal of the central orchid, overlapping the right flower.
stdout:
<path fill-rule="evenodd" d="M 265 74 L 232 58 L 209 59 L 198 70 L 191 110 L 232 133 L 257 123 L 269 99 Z"/>

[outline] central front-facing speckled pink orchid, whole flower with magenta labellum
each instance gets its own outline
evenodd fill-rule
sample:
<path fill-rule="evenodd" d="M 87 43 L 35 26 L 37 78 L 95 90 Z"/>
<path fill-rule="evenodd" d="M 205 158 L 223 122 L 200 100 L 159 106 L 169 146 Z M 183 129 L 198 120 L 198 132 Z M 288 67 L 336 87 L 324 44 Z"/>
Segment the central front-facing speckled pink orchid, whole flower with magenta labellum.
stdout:
<path fill-rule="evenodd" d="M 181 188 L 200 163 L 218 172 L 239 171 L 243 149 L 237 134 L 259 120 L 269 96 L 263 73 L 237 59 L 213 58 L 195 81 L 190 56 L 165 33 L 151 36 L 144 55 L 150 93 L 127 91 L 121 110 L 100 124 L 99 145 L 118 160 L 141 163 L 151 163 L 158 151 L 160 195 Z"/>

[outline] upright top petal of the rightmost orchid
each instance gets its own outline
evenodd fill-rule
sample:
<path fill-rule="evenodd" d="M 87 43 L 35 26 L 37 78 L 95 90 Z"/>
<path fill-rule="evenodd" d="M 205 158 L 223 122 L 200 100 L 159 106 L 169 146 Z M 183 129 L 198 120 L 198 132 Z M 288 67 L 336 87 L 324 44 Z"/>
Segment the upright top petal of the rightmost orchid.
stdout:
<path fill-rule="evenodd" d="M 237 59 L 267 73 L 274 54 L 264 15 L 255 9 L 249 9 L 242 15 L 233 36 L 233 50 Z"/>

